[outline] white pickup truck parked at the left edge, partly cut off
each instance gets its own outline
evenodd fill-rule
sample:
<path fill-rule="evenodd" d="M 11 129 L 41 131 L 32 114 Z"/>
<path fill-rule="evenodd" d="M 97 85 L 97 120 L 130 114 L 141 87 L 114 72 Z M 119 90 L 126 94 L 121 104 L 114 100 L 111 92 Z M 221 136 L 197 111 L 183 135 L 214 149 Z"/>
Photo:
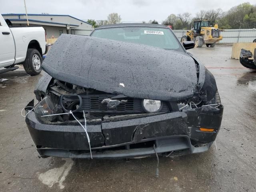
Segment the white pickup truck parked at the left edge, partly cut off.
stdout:
<path fill-rule="evenodd" d="M 27 74 L 37 75 L 47 50 L 42 26 L 12 26 L 0 14 L 0 73 L 16 70 L 15 65 L 22 64 Z"/>

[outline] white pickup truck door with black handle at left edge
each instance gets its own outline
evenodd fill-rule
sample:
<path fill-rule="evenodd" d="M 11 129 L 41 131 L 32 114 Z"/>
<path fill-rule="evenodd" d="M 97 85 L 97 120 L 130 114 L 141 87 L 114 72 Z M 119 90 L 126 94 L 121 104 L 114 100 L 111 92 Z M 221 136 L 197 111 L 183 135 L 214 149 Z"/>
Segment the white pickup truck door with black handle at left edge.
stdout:
<path fill-rule="evenodd" d="M 14 64 L 15 44 L 12 32 L 0 14 L 0 68 Z"/>

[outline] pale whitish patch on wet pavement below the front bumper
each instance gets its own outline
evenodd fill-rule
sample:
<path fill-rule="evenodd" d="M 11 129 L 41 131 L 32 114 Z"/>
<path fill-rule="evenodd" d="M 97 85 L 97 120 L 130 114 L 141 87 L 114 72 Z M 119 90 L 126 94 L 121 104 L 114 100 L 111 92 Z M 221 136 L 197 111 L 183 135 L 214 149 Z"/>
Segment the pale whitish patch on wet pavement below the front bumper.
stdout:
<path fill-rule="evenodd" d="M 55 183 L 58 183 L 58 186 L 60 189 L 63 189 L 65 186 L 63 185 L 63 182 L 66 179 L 66 176 L 70 172 L 74 161 L 70 158 L 62 158 L 62 160 L 65 161 L 64 165 L 62 165 L 59 168 L 53 168 L 45 173 L 41 173 L 38 176 L 38 179 L 43 183 L 48 185 L 48 187 L 52 187 Z"/>

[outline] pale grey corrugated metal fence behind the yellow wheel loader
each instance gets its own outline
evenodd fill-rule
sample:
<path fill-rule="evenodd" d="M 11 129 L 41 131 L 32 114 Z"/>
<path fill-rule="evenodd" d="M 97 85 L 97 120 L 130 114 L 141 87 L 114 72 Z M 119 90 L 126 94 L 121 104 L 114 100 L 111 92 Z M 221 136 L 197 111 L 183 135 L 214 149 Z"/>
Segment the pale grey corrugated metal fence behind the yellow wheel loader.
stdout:
<path fill-rule="evenodd" d="M 186 34 L 186 31 L 187 30 L 173 30 L 179 40 Z M 247 43 L 256 39 L 256 29 L 226 29 L 225 31 L 221 31 L 220 35 L 223 36 L 220 43 Z"/>

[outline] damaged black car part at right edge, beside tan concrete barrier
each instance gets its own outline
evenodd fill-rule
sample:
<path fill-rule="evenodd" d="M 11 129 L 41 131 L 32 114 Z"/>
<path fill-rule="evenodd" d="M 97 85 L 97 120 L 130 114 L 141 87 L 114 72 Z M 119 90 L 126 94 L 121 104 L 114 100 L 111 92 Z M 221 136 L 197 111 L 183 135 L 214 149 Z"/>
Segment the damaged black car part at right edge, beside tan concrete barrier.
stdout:
<path fill-rule="evenodd" d="M 254 60 L 249 58 L 254 58 Z M 240 53 L 240 63 L 246 68 L 256 70 L 256 49 L 254 49 L 254 56 L 250 50 L 242 49 Z"/>

